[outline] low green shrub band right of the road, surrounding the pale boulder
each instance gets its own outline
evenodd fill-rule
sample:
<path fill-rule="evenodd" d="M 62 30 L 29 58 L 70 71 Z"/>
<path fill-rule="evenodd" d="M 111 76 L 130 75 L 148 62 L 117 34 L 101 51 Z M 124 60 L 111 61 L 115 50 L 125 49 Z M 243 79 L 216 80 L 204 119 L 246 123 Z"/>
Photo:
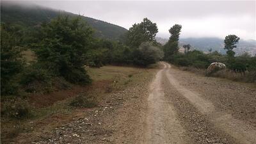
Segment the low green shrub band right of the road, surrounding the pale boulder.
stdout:
<path fill-rule="evenodd" d="M 200 73 L 204 71 L 205 76 L 223 77 L 234 81 L 255 82 L 256 57 L 249 54 L 241 56 L 227 56 L 219 52 L 204 54 L 201 51 L 189 51 L 186 54 L 177 53 L 169 57 L 168 61 L 192 72 Z M 225 70 L 216 70 L 209 74 L 205 69 L 212 62 L 221 62 L 227 65 Z"/>

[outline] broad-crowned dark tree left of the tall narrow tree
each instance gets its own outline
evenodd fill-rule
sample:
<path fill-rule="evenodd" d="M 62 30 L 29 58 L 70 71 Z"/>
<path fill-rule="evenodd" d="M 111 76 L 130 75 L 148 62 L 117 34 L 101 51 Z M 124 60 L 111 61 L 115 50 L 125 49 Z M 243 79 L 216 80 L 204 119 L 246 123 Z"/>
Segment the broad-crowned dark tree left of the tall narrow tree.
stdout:
<path fill-rule="evenodd" d="M 142 42 L 156 42 L 157 32 L 156 23 L 145 18 L 143 22 L 134 24 L 129 29 L 127 32 L 127 45 L 138 48 Z"/>

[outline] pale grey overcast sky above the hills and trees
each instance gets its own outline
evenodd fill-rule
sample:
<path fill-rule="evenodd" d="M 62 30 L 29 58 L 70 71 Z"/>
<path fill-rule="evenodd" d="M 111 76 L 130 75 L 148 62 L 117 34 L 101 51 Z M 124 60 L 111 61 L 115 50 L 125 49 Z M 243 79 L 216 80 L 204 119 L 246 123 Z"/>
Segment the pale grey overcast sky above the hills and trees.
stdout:
<path fill-rule="evenodd" d="M 28 1 L 22 3 L 28 3 Z M 235 34 L 256 40 L 255 1 L 33 1 L 50 8 L 80 13 L 129 29 L 144 17 L 157 23 L 157 36 L 168 38 L 173 24 L 181 37 Z"/>

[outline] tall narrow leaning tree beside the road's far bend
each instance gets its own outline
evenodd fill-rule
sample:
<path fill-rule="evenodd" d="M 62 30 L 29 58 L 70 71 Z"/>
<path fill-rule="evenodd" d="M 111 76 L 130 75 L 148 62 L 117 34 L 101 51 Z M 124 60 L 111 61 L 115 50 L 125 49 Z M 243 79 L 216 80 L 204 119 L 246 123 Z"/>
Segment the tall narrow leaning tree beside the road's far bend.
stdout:
<path fill-rule="evenodd" d="M 169 59 L 170 56 L 177 53 L 179 51 L 179 35 L 182 26 L 179 24 L 175 24 L 172 28 L 169 29 L 169 33 L 171 34 L 168 42 L 164 45 L 164 58 Z"/>

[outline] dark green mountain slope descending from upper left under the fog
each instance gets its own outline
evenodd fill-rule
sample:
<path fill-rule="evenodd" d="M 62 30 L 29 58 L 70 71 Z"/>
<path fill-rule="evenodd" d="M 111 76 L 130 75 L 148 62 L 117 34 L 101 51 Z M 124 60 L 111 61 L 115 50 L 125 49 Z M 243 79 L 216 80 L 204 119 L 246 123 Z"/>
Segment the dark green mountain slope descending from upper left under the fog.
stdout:
<path fill-rule="evenodd" d="M 1 3 L 1 22 L 20 24 L 22 26 L 36 26 L 42 22 L 49 22 L 60 14 L 70 15 L 72 17 L 77 16 L 74 13 L 52 10 L 41 6 L 21 6 L 7 2 Z M 84 16 L 82 16 L 82 19 L 95 29 L 95 35 L 100 38 L 117 40 L 127 31 L 125 28 L 102 20 Z"/>

